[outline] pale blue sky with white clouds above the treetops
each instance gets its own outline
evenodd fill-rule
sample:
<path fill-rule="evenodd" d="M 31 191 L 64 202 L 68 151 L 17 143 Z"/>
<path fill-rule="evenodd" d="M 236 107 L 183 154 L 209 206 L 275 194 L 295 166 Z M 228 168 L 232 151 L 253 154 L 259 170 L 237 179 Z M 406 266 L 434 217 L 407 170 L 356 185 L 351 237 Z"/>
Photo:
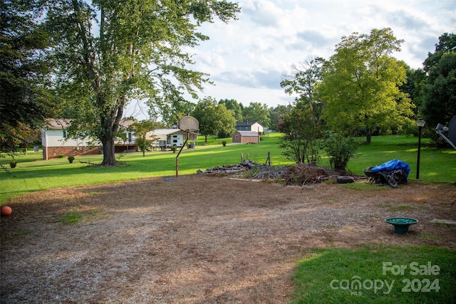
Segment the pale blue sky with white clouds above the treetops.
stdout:
<path fill-rule="evenodd" d="M 209 36 L 188 49 L 195 65 L 208 73 L 199 98 L 234 99 L 277 105 L 293 103 L 295 96 L 280 87 L 291 65 L 306 58 L 329 59 L 342 36 L 369 34 L 373 28 L 391 28 L 404 40 L 393 53 L 410 68 L 422 68 L 427 53 L 443 33 L 456 33 L 455 0 L 238 0 L 238 20 L 205 23 L 199 31 Z M 193 103 L 190 96 L 185 98 Z M 131 105 L 125 116 L 144 119 L 144 109 Z"/>

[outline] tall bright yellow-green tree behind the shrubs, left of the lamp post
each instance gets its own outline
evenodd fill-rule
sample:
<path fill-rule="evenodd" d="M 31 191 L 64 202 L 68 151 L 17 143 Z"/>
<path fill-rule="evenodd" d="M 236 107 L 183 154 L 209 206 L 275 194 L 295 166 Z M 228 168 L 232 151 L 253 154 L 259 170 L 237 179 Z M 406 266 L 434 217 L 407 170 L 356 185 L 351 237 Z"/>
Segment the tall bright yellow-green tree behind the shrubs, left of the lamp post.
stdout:
<path fill-rule="evenodd" d="M 402 40 L 390 28 L 343 36 L 336 53 L 323 66 L 318 94 L 326 104 L 323 118 L 344 135 L 400 132 L 413 125 L 413 104 L 399 90 L 405 64 L 391 56 Z"/>

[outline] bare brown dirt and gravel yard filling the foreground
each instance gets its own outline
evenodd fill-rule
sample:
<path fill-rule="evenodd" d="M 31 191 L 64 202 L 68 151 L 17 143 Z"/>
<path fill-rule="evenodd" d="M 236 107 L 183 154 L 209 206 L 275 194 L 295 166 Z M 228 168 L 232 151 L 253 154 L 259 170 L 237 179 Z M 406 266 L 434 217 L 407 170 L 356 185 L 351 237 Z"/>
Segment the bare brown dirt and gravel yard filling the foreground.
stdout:
<path fill-rule="evenodd" d="M 56 189 L 1 217 L 1 303 L 286 303 L 312 248 L 456 248 L 456 186 L 284 187 L 228 177 Z M 59 219 L 83 214 L 78 224 Z M 408 234 L 385 223 L 419 220 Z"/>

